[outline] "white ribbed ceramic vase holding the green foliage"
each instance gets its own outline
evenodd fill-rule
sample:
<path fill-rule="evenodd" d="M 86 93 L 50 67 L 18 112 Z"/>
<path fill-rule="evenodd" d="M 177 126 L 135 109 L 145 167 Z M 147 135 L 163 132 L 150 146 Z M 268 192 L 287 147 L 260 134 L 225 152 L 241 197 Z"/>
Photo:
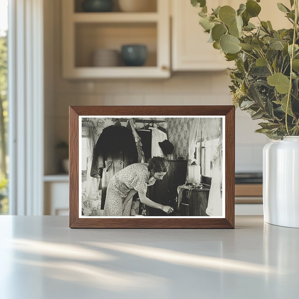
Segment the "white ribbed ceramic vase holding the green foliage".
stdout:
<path fill-rule="evenodd" d="M 265 145 L 263 207 L 265 222 L 299 228 L 299 136 Z"/>

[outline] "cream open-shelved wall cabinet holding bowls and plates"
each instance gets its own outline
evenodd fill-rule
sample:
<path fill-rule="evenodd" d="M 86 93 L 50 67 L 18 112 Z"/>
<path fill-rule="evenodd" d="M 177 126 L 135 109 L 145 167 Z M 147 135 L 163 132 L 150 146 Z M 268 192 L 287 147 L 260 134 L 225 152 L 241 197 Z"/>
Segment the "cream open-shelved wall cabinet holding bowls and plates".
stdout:
<path fill-rule="evenodd" d="M 170 77 L 169 1 L 150 0 L 155 11 L 127 13 L 83 12 L 81 0 L 62 1 L 62 73 L 67 79 Z M 92 64 L 97 49 L 117 50 L 122 45 L 147 46 L 144 66 L 98 67 Z M 110 54 L 111 55 L 111 54 Z"/>

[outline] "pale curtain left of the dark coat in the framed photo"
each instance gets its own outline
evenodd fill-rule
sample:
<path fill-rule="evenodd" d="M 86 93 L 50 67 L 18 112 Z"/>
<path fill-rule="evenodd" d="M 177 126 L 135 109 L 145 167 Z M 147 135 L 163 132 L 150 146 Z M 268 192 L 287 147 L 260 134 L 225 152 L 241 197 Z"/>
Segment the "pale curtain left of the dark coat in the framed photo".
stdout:
<path fill-rule="evenodd" d="M 90 176 L 92 155 L 94 148 L 94 130 L 92 126 L 82 126 L 83 135 L 87 136 L 87 175 L 86 175 L 86 197 L 88 199 L 99 199 L 99 179 Z"/>

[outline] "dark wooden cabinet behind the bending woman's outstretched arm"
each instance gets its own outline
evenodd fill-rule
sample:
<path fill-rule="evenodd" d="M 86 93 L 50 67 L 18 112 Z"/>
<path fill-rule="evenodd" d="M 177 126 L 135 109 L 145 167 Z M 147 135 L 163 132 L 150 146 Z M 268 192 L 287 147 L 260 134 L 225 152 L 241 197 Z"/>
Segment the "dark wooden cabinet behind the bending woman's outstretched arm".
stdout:
<path fill-rule="evenodd" d="M 154 185 L 148 187 L 147 196 L 154 202 L 161 205 L 174 206 L 176 188 L 185 184 L 187 174 L 187 161 L 168 160 L 169 171 L 163 180 L 157 180 Z M 147 207 L 148 216 L 167 216 L 162 210 Z"/>

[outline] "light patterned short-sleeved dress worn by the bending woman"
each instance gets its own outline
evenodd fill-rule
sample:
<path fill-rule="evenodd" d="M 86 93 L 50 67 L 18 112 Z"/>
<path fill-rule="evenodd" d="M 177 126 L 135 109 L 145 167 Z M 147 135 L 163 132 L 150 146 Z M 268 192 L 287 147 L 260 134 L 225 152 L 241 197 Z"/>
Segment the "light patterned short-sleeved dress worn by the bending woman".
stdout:
<path fill-rule="evenodd" d="M 147 193 L 147 186 L 155 184 L 155 178 L 149 179 L 148 163 L 131 164 L 110 180 L 107 187 L 106 202 L 103 216 L 131 216 L 132 198 L 123 211 L 123 200 L 130 190 Z"/>

